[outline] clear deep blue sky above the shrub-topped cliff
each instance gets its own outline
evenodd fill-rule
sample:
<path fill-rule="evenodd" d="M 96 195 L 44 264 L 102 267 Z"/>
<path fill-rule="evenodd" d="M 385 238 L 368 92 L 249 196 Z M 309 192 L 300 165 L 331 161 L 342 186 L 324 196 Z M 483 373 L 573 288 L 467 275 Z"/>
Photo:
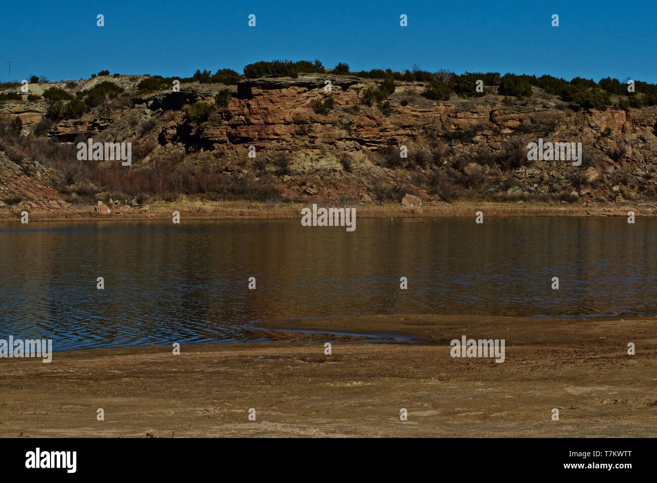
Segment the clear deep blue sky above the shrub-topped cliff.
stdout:
<path fill-rule="evenodd" d="M 102 13 L 105 26 L 96 26 Z M 256 27 L 247 25 L 256 14 Z M 399 15 L 408 15 L 408 27 Z M 551 26 L 552 14 L 560 26 Z M 0 80 L 242 73 L 257 60 L 348 62 L 351 70 L 612 76 L 657 82 L 657 0 L 7 1 Z"/>

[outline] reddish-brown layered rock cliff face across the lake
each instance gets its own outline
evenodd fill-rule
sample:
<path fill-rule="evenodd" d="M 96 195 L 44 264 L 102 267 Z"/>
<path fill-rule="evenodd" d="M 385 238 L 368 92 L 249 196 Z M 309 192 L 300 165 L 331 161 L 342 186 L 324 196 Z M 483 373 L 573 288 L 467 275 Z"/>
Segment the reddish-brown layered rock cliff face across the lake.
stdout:
<path fill-rule="evenodd" d="M 248 80 L 231 87 L 183 84 L 180 92 L 143 95 L 135 87 L 141 78 L 107 78 L 119 82 L 126 93 L 80 119 L 51 126 L 39 123 L 45 101 L 0 104 L 0 114 L 18 116 L 23 122 L 20 139 L 0 146 L 14 151 L 12 156 L 0 156 L 5 195 L 11 192 L 44 206 L 53 199 L 88 202 L 135 194 L 157 199 L 165 194 L 216 192 L 215 199 L 250 198 L 248 190 L 231 189 L 239 180 L 248 181 L 251 188 L 266 185 L 272 196 L 292 200 L 399 202 L 411 193 L 425 203 L 456 198 L 654 202 L 656 195 L 655 108 L 574 112 L 537 88 L 529 99 L 510 100 L 497 95 L 494 87 L 486 87 L 484 97 L 453 96 L 437 104 L 422 97 L 422 83 L 412 82 L 397 82 L 386 103 L 367 106 L 363 98 L 367 89 L 376 89 L 376 81 L 331 74 Z M 92 82 L 98 80 L 60 85 L 75 93 Z M 227 104 L 217 105 L 215 95 L 227 88 L 232 93 Z M 329 97 L 332 106 L 315 106 Z M 212 107 L 206 120 L 186 116 L 185 108 L 196 103 Z M 62 175 L 67 163 L 78 171 L 89 168 L 78 164 L 70 144 L 68 150 L 57 152 L 73 159 L 40 158 L 26 148 L 37 142 L 35 132 L 47 135 L 49 149 L 89 137 L 133 143 L 133 161 L 125 168 L 131 173 L 118 176 L 148 172 L 152 177 L 164 163 L 168 170 L 184 168 L 192 176 L 210 173 L 219 187 L 169 189 L 171 194 L 136 183 L 129 190 L 102 172 L 117 172 L 111 161 L 98 163 L 87 174 Z M 539 139 L 581 143 L 581 165 L 528 160 L 528 143 Z M 47 189 L 20 188 L 18 177 Z M 134 193 L 140 190 L 150 191 Z"/>

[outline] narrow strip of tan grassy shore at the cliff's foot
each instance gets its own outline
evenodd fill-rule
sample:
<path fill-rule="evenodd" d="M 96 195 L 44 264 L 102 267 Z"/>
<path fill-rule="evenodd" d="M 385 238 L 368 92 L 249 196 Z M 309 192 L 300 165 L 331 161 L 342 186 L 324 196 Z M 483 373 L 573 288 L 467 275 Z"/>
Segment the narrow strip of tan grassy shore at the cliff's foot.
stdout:
<path fill-rule="evenodd" d="M 177 211 L 181 219 L 249 219 L 249 218 L 301 218 L 301 209 L 309 204 L 337 206 L 328 200 L 311 200 L 308 204 L 265 204 L 256 202 L 157 202 L 150 204 L 147 212 L 99 214 L 93 206 L 74 206 L 59 210 L 30 210 L 13 206 L 0 208 L 0 221 L 20 221 L 20 213 L 27 210 L 32 221 L 116 221 L 171 219 Z M 627 216 L 633 211 L 636 216 L 657 216 L 657 204 L 541 204 L 541 203 L 497 203 L 455 202 L 453 204 L 424 205 L 421 210 L 410 210 L 399 204 L 358 204 L 359 218 L 436 218 L 475 217 L 482 211 L 484 216 Z"/>

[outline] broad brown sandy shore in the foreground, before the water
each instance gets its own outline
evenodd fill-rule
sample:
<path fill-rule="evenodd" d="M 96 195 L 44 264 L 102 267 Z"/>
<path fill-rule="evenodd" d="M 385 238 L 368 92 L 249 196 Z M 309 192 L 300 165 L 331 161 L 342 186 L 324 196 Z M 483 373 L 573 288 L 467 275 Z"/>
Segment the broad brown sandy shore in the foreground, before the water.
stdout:
<path fill-rule="evenodd" d="M 386 315 L 268 328 L 426 343 L 334 342 L 325 356 L 324 336 L 314 336 L 182 346 L 179 356 L 160 346 L 55 353 L 49 364 L 0 359 L 0 436 L 654 437 L 656 325 Z M 505 339 L 505 362 L 451 357 L 449 341 L 461 335 Z"/>

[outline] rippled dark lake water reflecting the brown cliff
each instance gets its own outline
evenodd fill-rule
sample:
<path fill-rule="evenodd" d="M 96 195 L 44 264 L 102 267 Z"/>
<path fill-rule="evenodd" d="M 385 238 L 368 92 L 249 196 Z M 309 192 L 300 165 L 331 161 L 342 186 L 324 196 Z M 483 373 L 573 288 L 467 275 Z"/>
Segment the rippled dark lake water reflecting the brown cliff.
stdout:
<path fill-rule="evenodd" d="M 0 338 L 67 350 L 296 340 L 253 325 L 337 315 L 654 315 L 656 275 L 655 218 L 3 223 Z"/>

